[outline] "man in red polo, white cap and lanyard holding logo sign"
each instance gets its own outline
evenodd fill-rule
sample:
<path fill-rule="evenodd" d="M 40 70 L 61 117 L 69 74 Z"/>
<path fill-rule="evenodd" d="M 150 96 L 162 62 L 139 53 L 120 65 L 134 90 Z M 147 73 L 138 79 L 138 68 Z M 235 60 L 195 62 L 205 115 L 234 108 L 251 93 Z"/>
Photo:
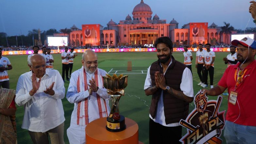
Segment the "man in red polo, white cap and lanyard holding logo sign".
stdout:
<path fill-rule="evenodd" d="M 256 95 L 252 88 L 256 80 L 256 41 L 250 38 L 233 40 L 237 46 L 236 65 L 229 66 L 218 85 L 204 89 L 210 96 L 220 95 L 228 88 L 228 110 L 224 137 L 227 144 L 255 143 Z"/>

